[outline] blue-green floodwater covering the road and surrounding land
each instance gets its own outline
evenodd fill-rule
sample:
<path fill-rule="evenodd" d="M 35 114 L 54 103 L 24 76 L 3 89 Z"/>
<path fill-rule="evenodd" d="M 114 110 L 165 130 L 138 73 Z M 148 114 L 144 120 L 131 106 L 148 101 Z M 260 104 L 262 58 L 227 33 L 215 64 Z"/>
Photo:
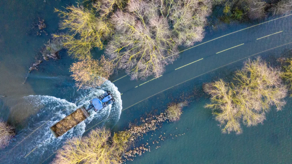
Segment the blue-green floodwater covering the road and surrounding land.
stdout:
<path fill-rule="evenodd" d="M 221 134 L 211 110 L 204 108 L 209 100 L 201 93 L 203 83 L 232 77 L 246 57 L 271 60 L 288 53 L 292 48 L 292 15 L 218 25 L 217 29 L 206 27 L 201 42 L 204 44 L 196 43 L 198 46 L 180 53 L 180 58 L 166 67 L 163 76 L 152 81 L 151 77 L 146 81 L 130 81 L 128 76 L 121 78 L 125 76 L 121 71 L 110 79 L 121 78 L 114 83 L 107 81 L 101 88 L 77 91 L 68 70 L 75 60 L 62 51 L 60 60 L 44 61 L 40 70 L 29 74 L 22 84 L 34 55 L 50 34 L 58 32 L 59 18 L 53 13 L 54 7 L 71 4 L 74 1 L 0 1 L 0 95 L 6 96 L 0 97 L 0 116 L 14 125 L 17 132 L 13 142 L 0 150 L 1 164 L 50 163 L 67 138 L 85 135 L 98 126 L 123 130 L 143 114 L 156 109 L 159 113 L 169 102 L 183 99 L 181 95 L 192 95 L 193 91 L 197 95 L 184 108 L 180 121 L 164 123 L 153 134 L 144 136 L 141 143 L 150 143 L 151 152 L 127 163 L 292 163 L 290 97 L 286 98 L 282 111 L 272 109 L 267 114 L 263 125 L 244 127 L 241 135 L 227 135 Z M 44 33 L 36 36 L 36 31 L 31 30 L 37 17 L 45 20 L 48 36 Z M 274 35 L 267 36 L 270 34 Z M 259 39 L 264 36 L 267 37 Z M 95 58 L 103 53 L 95 52 Z M 189 65 L 182 67 L 186 64 Z M 108 89 L 118 97 L 112 107 L 93 113 L 64 136 L 53 138 L 48 127 Z M 165 141 L 152 144 L 159 135 L 166 136 Z M 156 146 L 160 147 L 155 149 Z"/>

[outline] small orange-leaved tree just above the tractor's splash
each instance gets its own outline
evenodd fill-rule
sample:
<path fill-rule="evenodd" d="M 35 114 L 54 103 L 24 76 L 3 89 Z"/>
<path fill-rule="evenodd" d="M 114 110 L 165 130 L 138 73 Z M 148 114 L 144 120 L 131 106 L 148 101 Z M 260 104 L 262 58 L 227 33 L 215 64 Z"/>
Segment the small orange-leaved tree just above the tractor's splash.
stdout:
<path fill-rule="evenodd" d="M 80 88 L 96 87 L 103 84 L 112 75 L 113 64 L 102 55 L 100 60 L 82 60 L 70 67 L 76 86 Z"/>

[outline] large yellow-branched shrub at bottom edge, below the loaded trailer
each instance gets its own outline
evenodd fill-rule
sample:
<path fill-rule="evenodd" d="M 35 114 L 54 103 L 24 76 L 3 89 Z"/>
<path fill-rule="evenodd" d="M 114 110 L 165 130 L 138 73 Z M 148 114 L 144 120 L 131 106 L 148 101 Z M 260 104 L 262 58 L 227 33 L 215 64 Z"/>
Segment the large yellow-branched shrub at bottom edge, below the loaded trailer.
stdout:
<path fill-rule="evenodd" d="M 121 151 L 111 143 L 111 132 L 105 128 L 92 130 L 88 136 L 72 138 L 58 150 L 53 164 L 119 164 Z"/>

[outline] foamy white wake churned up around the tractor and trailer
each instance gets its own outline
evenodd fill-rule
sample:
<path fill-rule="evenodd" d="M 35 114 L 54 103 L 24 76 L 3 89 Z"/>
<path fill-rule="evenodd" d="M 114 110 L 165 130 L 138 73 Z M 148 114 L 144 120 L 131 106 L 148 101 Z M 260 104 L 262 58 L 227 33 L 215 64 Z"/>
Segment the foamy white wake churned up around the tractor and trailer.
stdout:
<path fill-rule="evenodd" d="M 79 125 L 72 128 L 58 139 L 53 137 L 49 127 L 75 111 L 77 108 L 81 106 L 87 108 L 89 106 L 90 100 L 102 95 L 107 90 L 112 92 L 112 95 L 116 100 L 113 104 L 105 107 L 97 113 L 93 110 L 90 110 L 90 117 L 88 117 L 85 121 L 79 123 Z M 32 151 L 34 148 L 36 149 L 29 156 L 33 156 L 33 158 L 47 156 L 48 154 L 45 153 L 55 152 L 55 150 L 60 148 L 61 144 L 66 139 L 81 136 L 88 128 L 91 128 L 93 125 L 103 125 L 107 123 L 113 126 L 117 123 L 122 110 L 122 101 L 121 93 L 113 83 L 106 81 L 102 86 L 100 86 L 99 89 L 90 88 L 88 90 L 80 90 L 79 92 L 82 93 L 82 95 L 78 98 L 76 104 L 52 96 L 30 95 L 23 97 L 24 103 L 22 104 L 27 104 L 29 107 L 32 107 L 31 110 L 39 110 L 37 114 L 30 119 L 29 124 L 32 124 L 33 126 L 29 125 L 29 130 L 25 132 L 27 133 L 26 135 L 28 135 L 32 130 L 38 128 L 40 125 L 44 125 L 25 138 L 25 150 L 22 150 L 22 153 L 19 154 L 20 156 L 26 156 L 26 154 Z M 26 154 L 23 154 L 23 152 Z"/>

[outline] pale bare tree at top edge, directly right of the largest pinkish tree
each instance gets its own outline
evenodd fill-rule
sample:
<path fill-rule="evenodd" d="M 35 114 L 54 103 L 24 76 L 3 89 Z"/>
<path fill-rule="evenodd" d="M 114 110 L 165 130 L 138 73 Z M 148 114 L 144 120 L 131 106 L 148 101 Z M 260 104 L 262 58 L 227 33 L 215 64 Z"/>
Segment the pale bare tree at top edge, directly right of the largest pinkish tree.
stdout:
<path fill-rule="evenodd" d="M 192 46 L 204 38 L 206 17 L 211 13 L 211 1 L 174 0 L 170 9 L 173 34 L 178 45 Z"/>

